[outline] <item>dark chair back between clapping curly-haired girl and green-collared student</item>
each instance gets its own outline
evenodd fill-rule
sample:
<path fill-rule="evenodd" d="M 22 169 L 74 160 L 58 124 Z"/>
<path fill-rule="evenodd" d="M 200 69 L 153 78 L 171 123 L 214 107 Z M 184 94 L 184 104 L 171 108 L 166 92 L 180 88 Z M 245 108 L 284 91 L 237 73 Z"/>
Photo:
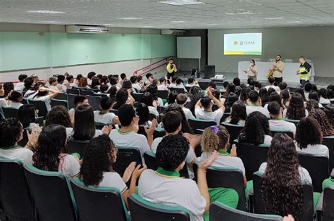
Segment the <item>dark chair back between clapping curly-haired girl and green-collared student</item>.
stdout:
<path fill-rule="evenodd" d="M 131 162 L 142 164 L 142 153 L 136 147 L 117 146 L 117 160 L 113 163 L 113 170 L 118 172 L 120 177 Z"/>

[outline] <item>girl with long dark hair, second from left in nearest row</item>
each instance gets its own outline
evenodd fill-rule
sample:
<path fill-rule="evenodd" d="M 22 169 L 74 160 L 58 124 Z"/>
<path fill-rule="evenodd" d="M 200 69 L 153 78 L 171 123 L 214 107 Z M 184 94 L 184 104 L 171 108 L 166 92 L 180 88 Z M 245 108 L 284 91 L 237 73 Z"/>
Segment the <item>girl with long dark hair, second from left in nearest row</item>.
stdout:
<path fill-rule="evenodd" d="M 68 154 L 66 127 L 48 125 L 39 134 L 32 165 L 39 170 L 58 171 L 66 177 L 75 177 L 80 172 L 78 156 Z"/>

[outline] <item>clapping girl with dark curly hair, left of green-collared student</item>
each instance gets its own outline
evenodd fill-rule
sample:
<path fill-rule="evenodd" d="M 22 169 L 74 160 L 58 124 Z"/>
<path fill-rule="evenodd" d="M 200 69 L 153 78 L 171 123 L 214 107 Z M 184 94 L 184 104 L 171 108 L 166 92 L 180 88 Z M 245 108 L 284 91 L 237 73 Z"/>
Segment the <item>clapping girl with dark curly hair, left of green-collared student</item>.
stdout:
<path fill-rule="evenodd" d="M 80 169 L 80 179 L 85 186 L 92 187 L 114 187 L 120 191 L 128 207 L 128 196 L 135 194 L 135 186 L 138 177 L 147 167 L 130 163 L 123 177 L 113 172 L 112 165 L 117 159 L 117 148 L 107 135 L 93 138 L 87 145 L 85 156 Z M 126 182 L 130 182 L 130 189 Z"/>

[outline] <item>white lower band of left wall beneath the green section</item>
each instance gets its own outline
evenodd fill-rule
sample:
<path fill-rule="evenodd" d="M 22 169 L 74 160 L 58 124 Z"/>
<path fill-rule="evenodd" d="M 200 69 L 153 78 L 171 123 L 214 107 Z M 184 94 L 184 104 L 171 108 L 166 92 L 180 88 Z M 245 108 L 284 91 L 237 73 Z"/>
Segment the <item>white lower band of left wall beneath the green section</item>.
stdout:
<path fill-rule="evenodd" d="M 18 81 L 18 75 L 39 75 L 40 79 L 47 79 L 55 74 L 63 74 L 65 72 L 70 73 L 74 77 L 78 74 L 82 74 L 87 76 L 88 72 L 94 71 L 97 74 L 101 75 L 120 75 L 120 73 L 126 73 L 128 77 L 132 76 L 132 73 L 135 70 L 140 68 L 144 68 L 145 66 L 155 63 L 163 58 L 154 58 L 147 60 L 133 60 L 133 61 L 120 61 L 120 62 L 112 62 L 112 63 L 99 63 L 99 64 L 90 64 L 90 65 L 75 65 L 69 67 L 61 67 L 61 68 L 42 68 L 42 69 L 34 69 L 34 70 L 18 70 L 18 71 L 10 71 L 10 72 L 0 72 L 0 82 L 8 82 L 8 81 Z M 161 64 L 161 63 L 159 63 Z M 158 64 L 158 65 L 159 65 Z M 155 65 L 156 66 L 156 65 Z M 154 67 L 154 65 L 152 66 Z M 145 69 L 149 70 L 149 68 Z M 144 70 L 144 71 L 145 71 Z M 151 71 L 154 74 L 155 78 L 163 77 L 166 74 L 166 67 L 163 65 L 160 68 Z"/>

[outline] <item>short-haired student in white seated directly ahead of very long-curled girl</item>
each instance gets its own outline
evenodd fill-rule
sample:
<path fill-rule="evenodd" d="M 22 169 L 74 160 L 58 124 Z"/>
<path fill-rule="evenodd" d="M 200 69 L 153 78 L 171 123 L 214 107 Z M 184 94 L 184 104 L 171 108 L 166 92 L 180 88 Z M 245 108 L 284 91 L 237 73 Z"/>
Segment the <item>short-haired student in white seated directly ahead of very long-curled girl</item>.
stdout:
<path fill-rule="evenodd" d="M 271 130 L 290 131 L 293 137 L 296 135 L 296 125 L 293 122 L 287 122 L 282 118 L 283 108 L 277 101 L 268 103 L 268 110 L 271 116 L 269 120 L 269 127 Z"/>

